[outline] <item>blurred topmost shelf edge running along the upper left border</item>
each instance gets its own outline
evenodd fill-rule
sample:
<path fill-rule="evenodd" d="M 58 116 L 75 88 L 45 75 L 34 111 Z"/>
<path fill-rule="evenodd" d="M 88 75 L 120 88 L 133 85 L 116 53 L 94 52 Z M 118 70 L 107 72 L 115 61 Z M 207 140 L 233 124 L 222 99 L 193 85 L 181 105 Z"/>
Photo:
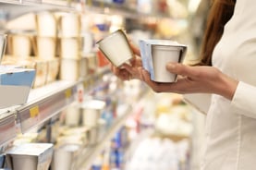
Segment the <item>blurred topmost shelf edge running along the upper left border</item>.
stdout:
<path fill-rule="evenodd" d="M 117 14 L 124 16 L 126 18 L 170 18 L 169 15 L 159 14 L 159 13 L 142 13 L 137 9 L 128 8 L 126 4 L 118 5 L 114 3 L 104 3 L 102 1 L 86 1 L 85 4 L 75 1 L 67 0 L 0 0 L 1 6 L 16 6 L 18 10 L 15 10 L 17 14 L 11 14 L 10 18 L 16 18 L 19 15 L 32 11 L 40 10 L 64 10 L 64 11 L 79 11 L 85 10 L 93 13 L 102 14 Z M 26 6 L 28 9 L 22 10 L 20 6 Z"/>

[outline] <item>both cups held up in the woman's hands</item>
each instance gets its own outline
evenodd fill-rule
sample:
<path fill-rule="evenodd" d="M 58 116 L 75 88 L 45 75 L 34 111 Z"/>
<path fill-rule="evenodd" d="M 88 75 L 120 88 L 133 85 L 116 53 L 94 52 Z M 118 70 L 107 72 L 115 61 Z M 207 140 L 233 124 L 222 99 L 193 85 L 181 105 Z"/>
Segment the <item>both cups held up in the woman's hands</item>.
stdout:
<path fill-rule="evenodd" d="M 116 30 L 112 34 L 97 42 L 99 49 L 116 67 L 130 63 L 135 57 L 123 30 Z M 142 66 L 149 71 L 151 79 L 156 82 L 174 82 L 176 74 L 166 70 L 168 62 L 183 62 L 187 52 L 187 45 L 169 40 L 140 40 L 140 55 Z"/>

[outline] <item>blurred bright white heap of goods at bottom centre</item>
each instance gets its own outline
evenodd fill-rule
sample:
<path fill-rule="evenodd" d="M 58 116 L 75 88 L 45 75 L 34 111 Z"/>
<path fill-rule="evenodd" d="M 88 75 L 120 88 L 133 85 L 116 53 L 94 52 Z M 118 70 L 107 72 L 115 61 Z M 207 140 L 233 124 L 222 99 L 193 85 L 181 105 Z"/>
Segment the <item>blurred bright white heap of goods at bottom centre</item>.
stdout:
<path fill-rule="evenodd" d="M 142 140 L 126 164 L 130 170 L 189 170 L 189 141 L 157 137 Z"/>

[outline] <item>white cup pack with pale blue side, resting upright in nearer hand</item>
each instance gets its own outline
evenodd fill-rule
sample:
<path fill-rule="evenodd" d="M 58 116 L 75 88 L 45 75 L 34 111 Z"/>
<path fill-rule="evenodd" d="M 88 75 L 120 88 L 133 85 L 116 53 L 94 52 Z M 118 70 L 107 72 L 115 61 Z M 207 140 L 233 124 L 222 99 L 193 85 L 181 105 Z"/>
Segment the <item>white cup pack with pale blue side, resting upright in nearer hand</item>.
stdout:
<path fill-rule="evenodd" d="M 140 40 L 142 66 L 150 72 L 156 82 L 174 82 L 176 74 L 166 70 L 168 62 L 182 63 L 187 53 L 187 45 L 167 40 Z"/>

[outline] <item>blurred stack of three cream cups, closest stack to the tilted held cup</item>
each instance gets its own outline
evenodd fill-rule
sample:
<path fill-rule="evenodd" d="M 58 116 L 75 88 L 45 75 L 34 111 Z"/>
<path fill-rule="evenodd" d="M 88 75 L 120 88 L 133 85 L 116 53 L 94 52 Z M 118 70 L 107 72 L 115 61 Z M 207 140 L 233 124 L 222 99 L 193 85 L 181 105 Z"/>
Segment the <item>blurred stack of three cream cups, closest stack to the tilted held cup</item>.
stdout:
<path fill-rule="evenodd" d="M 72 27 L 70 27 L 72 26 Z M 80 55 L 80 16 L 66 13 L 59 17 L 60 79 L 78 80 L 87 74 L 86 60 Z M 68 68 L 68 69 L 67 69 Z"/>

